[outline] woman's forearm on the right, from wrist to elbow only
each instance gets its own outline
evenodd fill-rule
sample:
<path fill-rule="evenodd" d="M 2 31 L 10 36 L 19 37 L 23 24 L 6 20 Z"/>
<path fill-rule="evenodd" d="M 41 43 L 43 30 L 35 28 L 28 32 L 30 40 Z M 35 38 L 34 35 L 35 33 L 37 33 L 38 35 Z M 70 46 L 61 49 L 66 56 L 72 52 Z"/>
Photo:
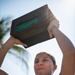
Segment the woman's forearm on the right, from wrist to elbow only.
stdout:
<path fill-rule="evenodd" d="M 74 45 L 72 44 L 72 42 L 58 28 L 53 29 L 53 35 L 55 36 L 55 38 L 64 54 L 67 52 L 75 51 Z"/>

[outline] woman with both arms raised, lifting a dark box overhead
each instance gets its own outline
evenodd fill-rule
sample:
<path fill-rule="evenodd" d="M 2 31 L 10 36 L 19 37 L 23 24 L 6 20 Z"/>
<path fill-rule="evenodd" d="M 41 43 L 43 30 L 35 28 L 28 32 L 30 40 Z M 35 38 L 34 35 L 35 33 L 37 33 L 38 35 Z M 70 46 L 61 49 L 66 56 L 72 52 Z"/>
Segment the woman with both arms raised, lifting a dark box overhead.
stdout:
<path fill-rule="evenodd" d="M 58 29 L 59 22 L 53 20 L 48 26 L 48 33 L 50 38 L 52 34 L 55 36 L 57 43 L 63 53 L 62 67 L 60 75 L 74 75 L 75 66 L 75 49 L 71 41 Z M 20 44 L 27 46 L 26 44 L 20 42 L 14 37 L 10 37 L 7 42 L 0 49 L 0 67 L 4 60 L 6 53 L 14 44 Z M 55 50 L 56 51 L 56 50 Z M 34 69 L 36 75 L 53 75 L 57 66 L 54 64 L 52 58 L 46 53 L 40 53 L 35 58 Z"/>

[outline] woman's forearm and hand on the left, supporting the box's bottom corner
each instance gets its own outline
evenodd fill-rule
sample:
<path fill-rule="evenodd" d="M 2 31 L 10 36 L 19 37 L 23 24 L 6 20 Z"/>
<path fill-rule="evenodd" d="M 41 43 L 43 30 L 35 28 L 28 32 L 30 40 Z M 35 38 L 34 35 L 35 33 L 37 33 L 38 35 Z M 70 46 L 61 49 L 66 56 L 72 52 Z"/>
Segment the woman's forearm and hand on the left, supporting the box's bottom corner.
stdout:
<path fill-rule="evenodd" d="M 26 44 L 22 43 L 20 40 L 14 38 L 14 37 L 10 37 L 6 43 L 0 48 L 0 67 L 1 64 L 4 60 L 4 57 L 6 55 L 6 53 L 9 51 L 9 49 L 14 45 L 14 44 L 19 44 L 19 45 L 23 45 L 25 47 L 27 47 Z"/>

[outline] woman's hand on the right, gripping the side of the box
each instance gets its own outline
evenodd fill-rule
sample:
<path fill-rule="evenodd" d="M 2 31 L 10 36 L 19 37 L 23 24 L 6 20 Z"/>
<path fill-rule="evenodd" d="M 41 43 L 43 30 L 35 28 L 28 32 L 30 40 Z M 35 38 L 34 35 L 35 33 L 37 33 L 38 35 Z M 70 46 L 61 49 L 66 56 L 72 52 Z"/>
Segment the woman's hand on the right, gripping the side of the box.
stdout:
<path fill-rule="evenodd" d="M 58 20 L 52 20 L 47 28 L 50 38 L 52 38 L 54 28 L 59 28 L 59 21 Z"/>

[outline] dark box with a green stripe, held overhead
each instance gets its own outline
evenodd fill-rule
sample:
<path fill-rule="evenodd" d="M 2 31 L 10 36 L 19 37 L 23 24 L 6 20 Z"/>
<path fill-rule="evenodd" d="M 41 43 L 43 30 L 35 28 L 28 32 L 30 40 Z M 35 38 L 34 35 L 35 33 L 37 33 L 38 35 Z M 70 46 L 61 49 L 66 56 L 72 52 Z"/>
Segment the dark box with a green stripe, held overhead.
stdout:
<path fill-rule="evenodd" d="M 33 46 L 50 39 L 47 27 L 54 19 L 56 18 L 48 5 L 44 5 L 14 19 L 10 34 L 27 44 L 28 47 Z"/>

